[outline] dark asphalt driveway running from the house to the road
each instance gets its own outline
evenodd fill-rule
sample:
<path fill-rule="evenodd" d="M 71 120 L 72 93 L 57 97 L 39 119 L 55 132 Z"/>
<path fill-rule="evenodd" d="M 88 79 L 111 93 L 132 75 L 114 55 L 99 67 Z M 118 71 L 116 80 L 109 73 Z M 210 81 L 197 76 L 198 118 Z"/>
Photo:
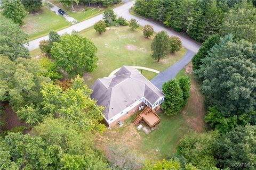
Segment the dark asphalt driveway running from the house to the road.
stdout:
<path fill-rule="evenodd" d="M 183 67 L 185 67 L 195 55 L 194 52 L 188 50 L 186 55 L 181 58 L 177 63 L 170 66 L 165 71 L 159 73 L 155 78 L 153 78 L 150 82 L 153 83 L 158 89 L 162 90 L 163 83 L 174 79 L 176 75 L 180 72 Z"/>

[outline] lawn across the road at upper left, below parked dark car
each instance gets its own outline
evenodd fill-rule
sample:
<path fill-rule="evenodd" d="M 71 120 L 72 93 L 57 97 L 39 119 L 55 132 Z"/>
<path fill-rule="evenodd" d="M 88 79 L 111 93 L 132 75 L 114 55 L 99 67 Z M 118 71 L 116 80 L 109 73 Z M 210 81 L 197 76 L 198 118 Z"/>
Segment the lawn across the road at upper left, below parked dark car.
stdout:
<path fill-rule="evenodd" d="M 57 31 L 70 26 L 65 18 L 46 7 L 41 7 L 37 13 L 28 14 L 24 23 L 22 29 L 29 35 L 29 40 L 45 36 L 51 30 Z"/>

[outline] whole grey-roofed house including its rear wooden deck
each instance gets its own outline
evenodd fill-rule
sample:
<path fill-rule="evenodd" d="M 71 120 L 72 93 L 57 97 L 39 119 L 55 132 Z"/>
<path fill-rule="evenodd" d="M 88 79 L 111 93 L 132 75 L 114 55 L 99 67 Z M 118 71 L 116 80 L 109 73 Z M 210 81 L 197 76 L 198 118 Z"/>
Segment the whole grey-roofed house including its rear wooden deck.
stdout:
<path fill-rule="evenodd" d="M 103 114 L 109 126 L 142 109 L 146 114 L 140 116 L 139 121 L 148 117 L 145 121 L 151 121 L 151 126 L 160 120 L 155 111 L 163 103 L 164 94 L 132 66 L 123 66 L 113 77 L 98 79 L 91 88 L 91 98 L 105 106 Z M 154 116 L 155 120 L 152 119 Z M 137 118 L 135 124 L 139 121 Z"/>

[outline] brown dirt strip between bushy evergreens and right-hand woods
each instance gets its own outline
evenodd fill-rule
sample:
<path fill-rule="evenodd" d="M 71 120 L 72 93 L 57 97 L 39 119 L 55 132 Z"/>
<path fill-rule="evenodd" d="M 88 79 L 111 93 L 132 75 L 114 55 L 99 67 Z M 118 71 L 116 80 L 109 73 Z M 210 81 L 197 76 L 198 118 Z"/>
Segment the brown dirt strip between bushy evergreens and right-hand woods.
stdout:
<path fill-rule="evenodd" d="M 192 64 L 185 67 L 186 74 L 190 77 L 190 97 L 188 98 L 187 106 L 182 110 L 182 114 L 186 117 L 186 122 L 189 126 L 197 131 L 203 132 L 205 127 L 204 116 L 204 96 L 200 91 L 200 86 L 194 78 Z"/>

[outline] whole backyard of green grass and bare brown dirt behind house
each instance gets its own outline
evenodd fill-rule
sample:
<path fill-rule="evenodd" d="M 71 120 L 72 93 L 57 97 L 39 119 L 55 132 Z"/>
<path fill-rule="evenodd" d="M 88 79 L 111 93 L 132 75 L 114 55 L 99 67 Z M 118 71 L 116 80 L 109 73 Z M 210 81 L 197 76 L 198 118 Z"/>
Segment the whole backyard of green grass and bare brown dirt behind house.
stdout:
<path fill-rule="evenodd" d="M 190 77 L 191 89 L 186 107 L 177 115 L 166 116 L 162 111 L 159 112 L 161 123 L 148 135 L 135 128 L 132 123 L 135 117 L 133 115 L 125 121 L 124 126 L 116 126 L 99 135 L 96 141 L 97 148 L 105 151 L 110 143 L 119 143 L 131 147 L 146 159 L 159 160 L 172 156 L 177 151 L 179 140 L 183 135 L 190 131 L 204 132 L 204 97 L 191 71 L 191 64 L 181 70 L 182 74 Z"/>

